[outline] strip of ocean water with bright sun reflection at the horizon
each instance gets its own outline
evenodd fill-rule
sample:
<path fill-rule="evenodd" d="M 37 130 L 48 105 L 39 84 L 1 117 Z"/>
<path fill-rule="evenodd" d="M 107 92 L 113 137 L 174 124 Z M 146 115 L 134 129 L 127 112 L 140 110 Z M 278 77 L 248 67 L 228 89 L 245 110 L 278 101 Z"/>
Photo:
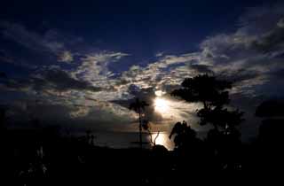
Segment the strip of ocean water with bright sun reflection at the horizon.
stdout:
<path fill-rule="evenodd" d="M 99 146 L 107 146 L 115 149 L 139 147 L 139 134 L 134 132 L 98 132 L 93 133 L 95 136 L 94 143 Z M 157 133 L 152 133 L 152 139 L 157 136 Z M 143 133 L 143 147 L 150 148 L 152 145 L 150 143 L 151 137 Z M 174 143 L 169 139 L 169 134 L 167 132 L 160 132 L 159 136 L 156 138 L 156 144 L 162 144 L 168 150 L 173 150 Z"/>

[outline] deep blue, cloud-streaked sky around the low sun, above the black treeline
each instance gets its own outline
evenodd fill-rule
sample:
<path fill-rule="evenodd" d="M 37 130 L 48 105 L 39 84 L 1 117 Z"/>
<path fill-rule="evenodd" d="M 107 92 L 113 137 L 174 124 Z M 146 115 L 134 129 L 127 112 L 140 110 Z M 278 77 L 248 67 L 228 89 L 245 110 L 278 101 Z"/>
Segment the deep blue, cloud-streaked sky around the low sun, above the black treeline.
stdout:
<path fill-rule="evenodd" d="M 11 127 L 137 131 L 128 106 L 145 99 L 155 131 L 195 110 L 170 97 L 185 77 L 233 81 L 232 105 L 256 134 L 256 106 L 284 93 L 280 1 L 2 1 L 0 103 Z M 155 105 L 155 98 L 166 109 Z"/>

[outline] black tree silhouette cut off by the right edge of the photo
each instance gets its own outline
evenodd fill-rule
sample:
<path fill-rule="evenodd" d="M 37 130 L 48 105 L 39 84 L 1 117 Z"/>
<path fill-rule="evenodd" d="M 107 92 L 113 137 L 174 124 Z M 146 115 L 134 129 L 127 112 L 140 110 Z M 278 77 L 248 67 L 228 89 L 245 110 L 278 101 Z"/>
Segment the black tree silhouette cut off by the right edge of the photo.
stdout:
<path fill-rule="evenodd" d="M 273 98 L 265 100 L 256 107 L 256 116 L 261 118 L 256 139 L 254 160 L 257 170 L 278 170 L 283 162 L 284 100 Z M 259 165 L 259 162 L 261 164 Z"/>

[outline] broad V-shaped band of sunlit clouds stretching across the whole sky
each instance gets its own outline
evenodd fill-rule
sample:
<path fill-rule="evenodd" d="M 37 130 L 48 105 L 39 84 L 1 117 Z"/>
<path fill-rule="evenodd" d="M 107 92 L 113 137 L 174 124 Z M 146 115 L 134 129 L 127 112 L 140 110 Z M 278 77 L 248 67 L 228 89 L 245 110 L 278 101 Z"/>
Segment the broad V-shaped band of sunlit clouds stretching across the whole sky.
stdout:
<path fill-rule="evenodd" d="M 195 52 L 156 53 L 154 59 L 143 66 L 129 61 L 124 66 L 123 60 L 129 59 L 130 54 L 99 50 L 77 37 L 62 35 L 59 30 L 49 29 L 39 34 L 20 24 L 2 22 L 1 34 L 5 40 L 39 54 L 48 53 L 54 56 L 57 66 L 38 65 L 28 78 L 6 78 L 0 88 L 36 95 L 51 105 L 65 105 L 66 115 L 74 120 L 101 121 L 106 125 L 115 120 L 120 127 L 126 123 L 125 128 L 137 121 L 134 113 L 128 111 L 133 97 L 153 104 L 154 91 L 169 93 L 186 77 L 197 74 L 215 74 L 233 81 L 233 97 L 256 99 L 282 95 L 283 7 L 276 4 L 248 8 L 233 32 L 209 35 Z M 2 55 L 0 58 L 8 57 Z M 129 68 L 122 70 L 120 65 Z M 112 70 L 113 66 L 118 67 Z M 172 101 L 167 96 L 165 94 L 164 98 Z M 174 108 L 177 120 L 193 118 L 194 108 L 196 105 L 178 102 Z M 161 114 L 154 112 L 153 106 L 148 108 L 147 114 L 155 122 L 164 120 Z M 169 124 L 172 120 L 167 121 Z"/>

